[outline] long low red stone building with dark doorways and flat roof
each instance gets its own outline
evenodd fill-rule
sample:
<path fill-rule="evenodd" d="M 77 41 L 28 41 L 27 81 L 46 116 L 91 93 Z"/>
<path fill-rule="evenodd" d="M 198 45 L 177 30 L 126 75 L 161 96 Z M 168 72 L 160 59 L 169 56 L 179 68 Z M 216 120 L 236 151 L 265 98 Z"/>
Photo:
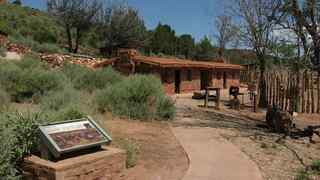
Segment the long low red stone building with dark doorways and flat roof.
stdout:
<path fill-rule="evenodd" d="M 141 56 L 136 51 L 119 51 L 112 63 L 123 74 L 153 74 L 168 94 L 188 93 L 207 86 L 227 89 L 240 86 L 240 65 Z"/>

